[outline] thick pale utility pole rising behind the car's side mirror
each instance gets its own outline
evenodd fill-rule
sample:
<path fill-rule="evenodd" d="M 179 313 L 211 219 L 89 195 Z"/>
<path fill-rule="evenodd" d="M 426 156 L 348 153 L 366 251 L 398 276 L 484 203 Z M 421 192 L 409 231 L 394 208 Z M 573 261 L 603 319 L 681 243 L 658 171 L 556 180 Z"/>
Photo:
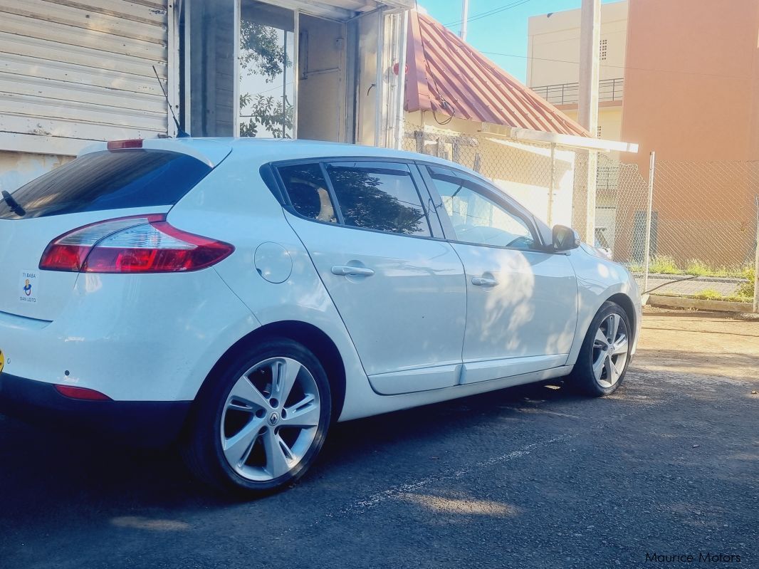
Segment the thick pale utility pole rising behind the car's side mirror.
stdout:
<path fill-rule="evenodd" d="M 578 121 L 596 137 L 598 129 L 598 80 L 600 66 L 601 5 L 600 0 L 582 0 L 580 13 L 580 102 Z M 596 171 L 598 153 L 587 151 L 587 179 L 584 184 L 584 203 L 575 201 L 575 211 L 584 224 L 578 230 L 584 240 L 593 244 L 596 234 Z M 578 200 L 580 201 L 580 200 Z"/>

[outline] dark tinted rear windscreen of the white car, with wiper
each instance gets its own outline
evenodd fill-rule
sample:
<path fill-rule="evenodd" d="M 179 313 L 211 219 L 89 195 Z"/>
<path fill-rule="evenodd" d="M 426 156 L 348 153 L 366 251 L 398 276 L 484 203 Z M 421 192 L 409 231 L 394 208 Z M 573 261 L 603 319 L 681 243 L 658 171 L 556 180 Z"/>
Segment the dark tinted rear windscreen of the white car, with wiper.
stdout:
<path fill-rule="evenodd" d="M 173 206 L 211 169 L 180 152 L 93 152 L 30 181 L 11 200 L 0 197 L 0 219 Z"/>

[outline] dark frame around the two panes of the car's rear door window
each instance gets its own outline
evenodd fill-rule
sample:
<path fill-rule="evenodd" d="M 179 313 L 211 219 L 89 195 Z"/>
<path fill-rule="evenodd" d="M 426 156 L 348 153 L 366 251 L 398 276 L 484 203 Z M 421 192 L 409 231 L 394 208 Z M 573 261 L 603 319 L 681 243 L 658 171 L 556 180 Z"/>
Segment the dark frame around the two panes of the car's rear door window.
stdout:
<path fill-rule="evenodd" d="M 396 233 L 395 231 L 363 228 L 346 224 L 342 213 L 342 206 L 340 205 L 339 200 L 337 200 L 335 188 L 332 186 L 332 180 L 329 178 L 329 173 L 326 171 L 327 164 L 335 164 L 340 162 L 367 162 L 369 164 L 381 164 L 383 162 L 386 162 L 388 164 L 402 164 L 408 167 L 408 174 L 411 178 L 412 184 L 414 184 L 414 187 L 417 190 L 417 196 L 419 196 L 420 206 L 424 212 L 424 218 L 427 222 L 427 228 L 430 230 L 430 234 L 414 235 L 408 233 Z M 304 215 L 301 215 L 301 213 L 299 213 L 292 205 L 290 196 L 287 192 L 287 187 L 285 186 L 285 181 L 282 179 L 282 175 L 279 173 L 279 168 L 306 164 L 320 165 L 322 175 L 327 184 L 327 190 L 329 191 L 329 198 L 332 200 L 332 207 L 335 209 L 335 215 L 338 218 L 337 223 L 323 222 L 319 219 L 306 217 Z M 430 188 L 428 187 L 427 182 L 424 180 L 424 177 L 420 170 L 421 168 L 418 167 L 416 161 L 403 158 L 392 158 L 386 156 L 320 156 L 318 158 L 288 159 L 268 162 L 261 166 L 260 174 L 266 186 L 269 187 L 269 190 L 276 197 L 277 201 L 279 201 L 280 205 L 282 205 L 285 211 L 291 215 L 295 215 L 298 218 L 305 219 L 306 221 L 327 225 L 329 227 L 342 227 L 347 229 L 354 229 L 357 231 L 371 231 L 373 233 L 397 235 L 399 237 L 447 240 L 446 232 L 442 227 L 442 220 L 439 218 L 439 215 L 436 211 L 433 212 L 432 209 L 430 209 L 430 205 L 436 205 L 434 196 L 430 192 Z"/>

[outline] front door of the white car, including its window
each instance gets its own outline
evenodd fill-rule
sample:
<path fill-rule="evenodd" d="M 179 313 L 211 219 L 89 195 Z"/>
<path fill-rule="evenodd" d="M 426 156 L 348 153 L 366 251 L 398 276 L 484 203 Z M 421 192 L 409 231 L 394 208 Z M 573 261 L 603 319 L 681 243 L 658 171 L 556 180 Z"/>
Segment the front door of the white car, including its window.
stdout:
<path fill-rule="evenodd" d="M 424 168 L 466 272 L 461 382 L 564 365 L 578 311 L 568 257 L 540 250 L 531 215 L 495 188 L 459 171 Z"/>

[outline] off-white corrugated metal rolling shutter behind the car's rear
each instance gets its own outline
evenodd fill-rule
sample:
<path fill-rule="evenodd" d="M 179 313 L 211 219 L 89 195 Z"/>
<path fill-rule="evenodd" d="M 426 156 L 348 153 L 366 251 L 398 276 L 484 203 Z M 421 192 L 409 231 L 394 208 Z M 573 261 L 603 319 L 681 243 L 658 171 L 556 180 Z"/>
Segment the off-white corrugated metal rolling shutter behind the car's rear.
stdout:
<path fill-rule="evenodd" d="M 0 149 L 168 134 L 169 2 L 0 0 Z"/>

